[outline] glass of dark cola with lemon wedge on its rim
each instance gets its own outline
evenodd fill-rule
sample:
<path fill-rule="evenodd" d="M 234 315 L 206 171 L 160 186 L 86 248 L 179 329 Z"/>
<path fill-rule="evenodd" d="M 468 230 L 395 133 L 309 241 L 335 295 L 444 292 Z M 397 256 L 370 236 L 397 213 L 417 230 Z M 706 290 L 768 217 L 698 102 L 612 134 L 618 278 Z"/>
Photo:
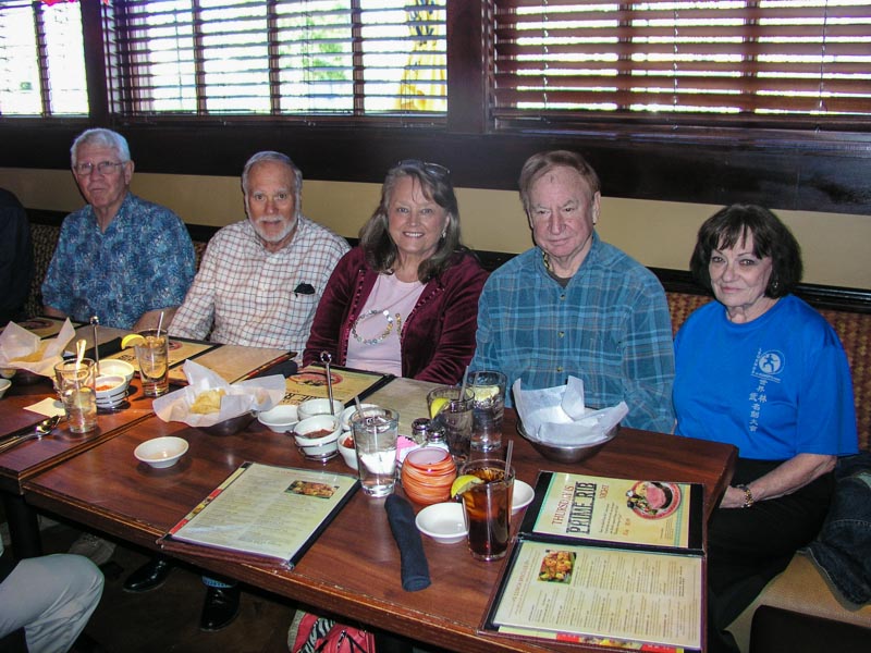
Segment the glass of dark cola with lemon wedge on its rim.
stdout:
<path fill-rule="evenodd" d="M 468 485 L 459 495 L 466 510 L 471 557 L 498 560 L 508 551 L 514 468 L 506 470 L 505 461 L 496 458 L 477 458 L 466 463 L 459 473 L 483 481 Z"/>

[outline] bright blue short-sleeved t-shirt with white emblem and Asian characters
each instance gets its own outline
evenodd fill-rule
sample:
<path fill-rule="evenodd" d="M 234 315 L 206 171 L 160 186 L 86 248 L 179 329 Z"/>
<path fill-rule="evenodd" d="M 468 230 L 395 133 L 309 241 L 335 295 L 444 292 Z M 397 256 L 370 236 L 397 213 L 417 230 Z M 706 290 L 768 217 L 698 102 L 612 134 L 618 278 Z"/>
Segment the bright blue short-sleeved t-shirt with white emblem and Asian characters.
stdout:
<path fill-rule="evenodd" d="M 744 458 L 858 451 L 849 366 L 825 319 L 798 297 L 733 324 L 712 301 L 675 338 L 677 433 Z"/>

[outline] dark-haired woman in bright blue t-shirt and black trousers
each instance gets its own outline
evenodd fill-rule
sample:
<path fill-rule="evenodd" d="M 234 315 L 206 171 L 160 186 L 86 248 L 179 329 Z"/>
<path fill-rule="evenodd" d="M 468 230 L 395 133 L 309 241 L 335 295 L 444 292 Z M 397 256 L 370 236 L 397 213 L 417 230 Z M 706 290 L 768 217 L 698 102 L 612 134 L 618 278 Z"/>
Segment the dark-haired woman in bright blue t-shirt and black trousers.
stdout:
<path fill-rule="evenodd" d="M 716 301 L 675 338 L 676 432 L 738 447 L 708 537 L 709 649 L 822 525 L 837 456 L 858 451 L 847 357 L 792 291 L 801 251 L 768 209 L 733 205 L 699 230 L 690 269 Z"/>

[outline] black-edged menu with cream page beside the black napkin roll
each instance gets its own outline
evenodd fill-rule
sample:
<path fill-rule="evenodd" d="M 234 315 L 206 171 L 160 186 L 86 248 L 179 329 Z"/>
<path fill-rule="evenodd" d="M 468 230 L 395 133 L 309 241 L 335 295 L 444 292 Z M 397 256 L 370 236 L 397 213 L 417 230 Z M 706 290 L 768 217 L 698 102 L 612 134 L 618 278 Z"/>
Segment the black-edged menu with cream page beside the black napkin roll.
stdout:
<path fill-rule="evenodd" d="M 169 551 L 221 559 L 241 553 L 247 557 L 238 559 L 292 568 L 358 486 L 356 476 L 245 463 L 160 543 Z"/>

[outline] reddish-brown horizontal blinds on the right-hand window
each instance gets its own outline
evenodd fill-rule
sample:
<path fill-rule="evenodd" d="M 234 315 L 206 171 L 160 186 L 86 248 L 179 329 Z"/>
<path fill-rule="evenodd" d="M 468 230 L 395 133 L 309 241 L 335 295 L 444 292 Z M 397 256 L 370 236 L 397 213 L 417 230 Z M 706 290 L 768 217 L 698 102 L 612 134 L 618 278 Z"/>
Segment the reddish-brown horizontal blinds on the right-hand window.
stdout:
<path fill-rule="evenodd" d="M 495 113 L 871 116 L 871 4 L 495 0 Z"/>

